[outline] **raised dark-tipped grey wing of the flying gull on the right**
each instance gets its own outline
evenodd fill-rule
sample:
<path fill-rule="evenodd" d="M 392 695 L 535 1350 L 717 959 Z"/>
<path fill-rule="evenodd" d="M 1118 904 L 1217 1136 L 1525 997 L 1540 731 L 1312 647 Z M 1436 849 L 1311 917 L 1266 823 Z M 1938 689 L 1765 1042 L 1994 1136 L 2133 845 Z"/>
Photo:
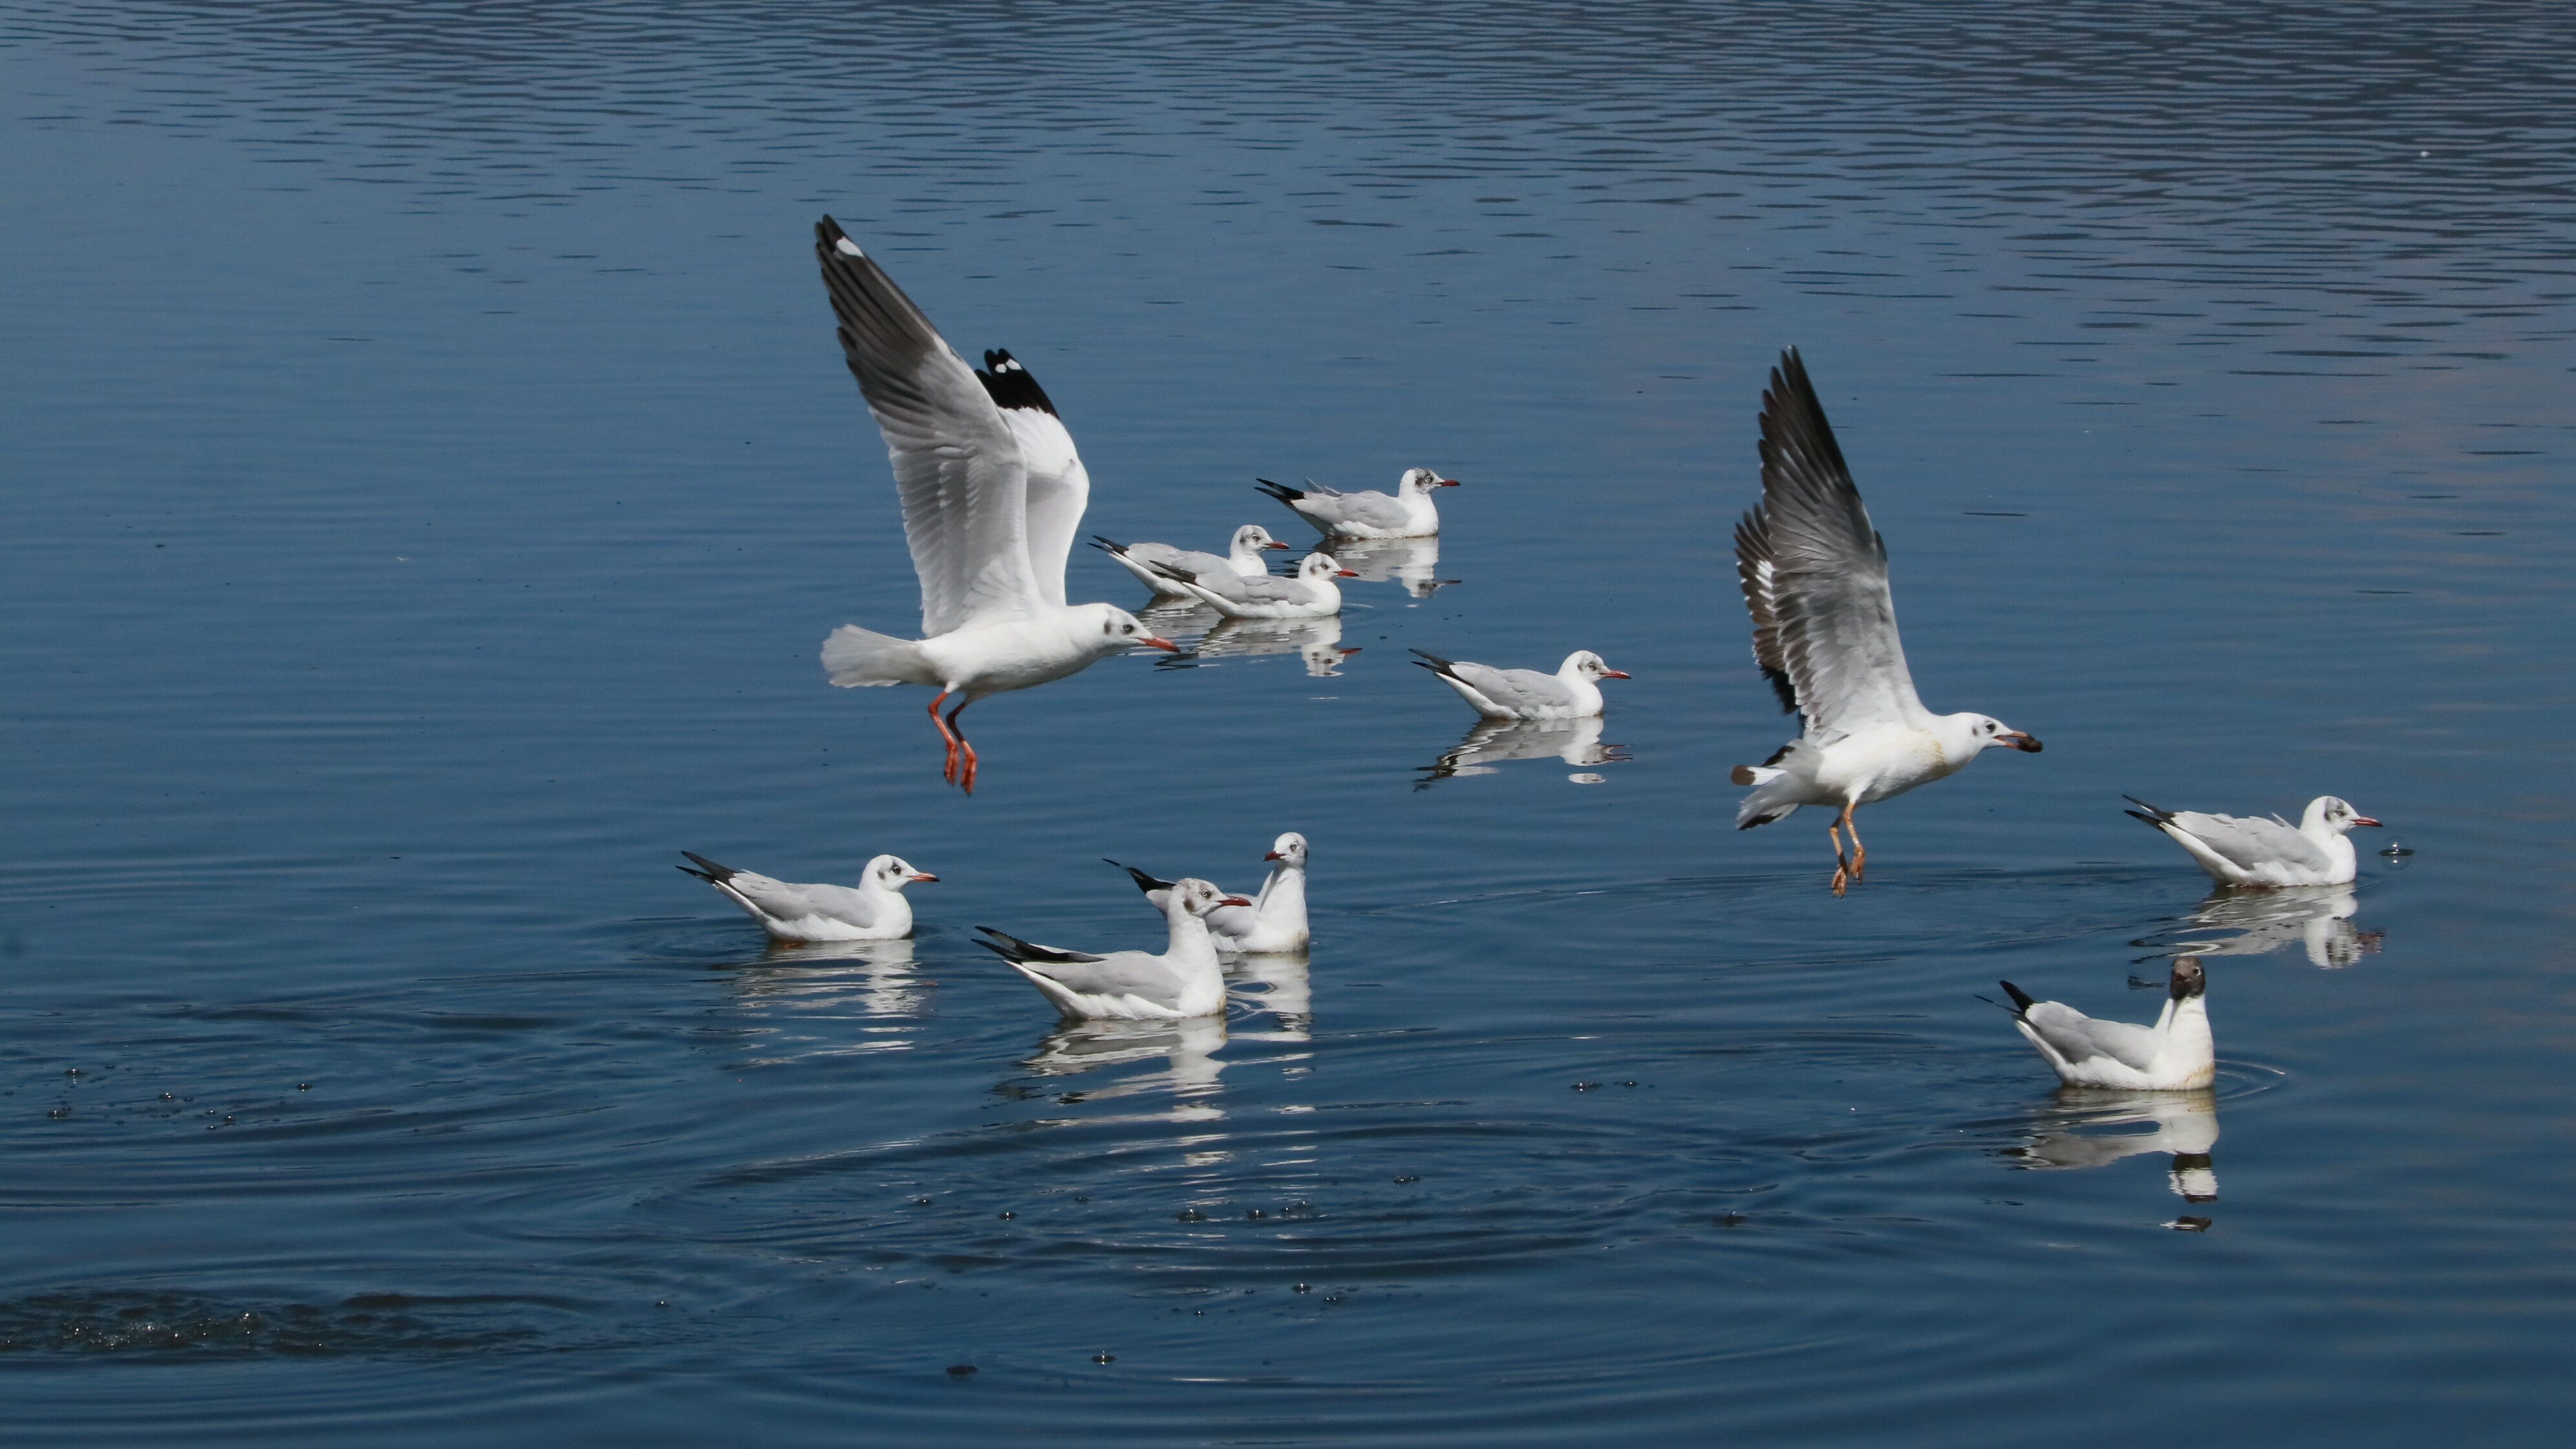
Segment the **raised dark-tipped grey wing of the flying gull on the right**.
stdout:
<path fill-rule="evenodd" d="M 1806 714 L 1811 740 L 1927 719 L 1896 637 L 1888 544 L 1798 348 L 1780 353 L 1762 394 L 1762 503 L 1736 523 L 1736 578 L 1754 663 Z"/>

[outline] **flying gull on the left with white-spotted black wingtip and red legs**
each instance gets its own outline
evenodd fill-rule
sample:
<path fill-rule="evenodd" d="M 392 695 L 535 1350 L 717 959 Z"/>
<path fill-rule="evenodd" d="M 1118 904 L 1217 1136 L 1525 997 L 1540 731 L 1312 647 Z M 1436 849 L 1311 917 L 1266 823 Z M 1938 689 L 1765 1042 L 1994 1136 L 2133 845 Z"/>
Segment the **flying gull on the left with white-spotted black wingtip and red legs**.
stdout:
<path fill-rule="evenodd" d="M 842 624 L 822 645 L 822 668 L 845 688 L 938 686 L 930 722 L 948 745 L 943 776 L 974 794 L 974 745 L 958 732 L 969 704 L 1064 678 L 1128 645 L 1180 645 L 1110 603 L 1066 608 L 1064 557 L 1092 480 L 1038 379 L 1005 351 L 969 369 L 832 217 L 814 224 L 814 255 L 840 351 L 886 436 L 922 575 L 920 639 Z M 951 694 L 958 706 L 940 719 Z"/>

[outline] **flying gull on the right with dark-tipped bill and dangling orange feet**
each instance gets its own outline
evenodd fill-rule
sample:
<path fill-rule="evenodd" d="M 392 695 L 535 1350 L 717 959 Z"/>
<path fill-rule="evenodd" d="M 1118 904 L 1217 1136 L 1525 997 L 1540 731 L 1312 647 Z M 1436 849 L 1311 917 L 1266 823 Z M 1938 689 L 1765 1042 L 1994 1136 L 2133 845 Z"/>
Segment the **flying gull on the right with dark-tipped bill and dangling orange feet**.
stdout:
<path fill-rule="evenodd" d="M 1986 745 L 2040 753 L 2040 743 L 1991 714 L 1932 714 L 1914 696 L 1888 596 L 1888 544 L 1860 505 L 1834 428 L 1806 379 L 1798 348 L 1780 353 L 1762 394 L 1762 503 L 1736 523 L 1736 575 L 1754 616 L 1754 663 L 1803 735 L 1759 766 L 1736 766 L 1754 786 L 1736 830 L 1770 825 L 1801 804 L 1842 807 L 1834 895 L 1860 879 L 1868 853 L 1852 810 L 1960 771 Z M 1852 833 L 1852 859 L 1842 835 Z"/>

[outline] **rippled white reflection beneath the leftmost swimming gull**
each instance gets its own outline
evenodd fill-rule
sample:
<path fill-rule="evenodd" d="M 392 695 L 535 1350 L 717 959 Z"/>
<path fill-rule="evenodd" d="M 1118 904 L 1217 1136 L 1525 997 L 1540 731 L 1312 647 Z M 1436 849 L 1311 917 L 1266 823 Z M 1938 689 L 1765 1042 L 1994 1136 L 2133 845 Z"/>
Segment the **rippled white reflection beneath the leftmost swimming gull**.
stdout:
<path fill-rule="evenodd" d="M 912 941 L 773 944 L 732 962 L 734 1008 L 757 1021 L 762 1065 L 912 1047 L 912 1018 L 930 1000 L 912 969 Z M 853 1036 L 837 1021 L 860 1021 Z"/>

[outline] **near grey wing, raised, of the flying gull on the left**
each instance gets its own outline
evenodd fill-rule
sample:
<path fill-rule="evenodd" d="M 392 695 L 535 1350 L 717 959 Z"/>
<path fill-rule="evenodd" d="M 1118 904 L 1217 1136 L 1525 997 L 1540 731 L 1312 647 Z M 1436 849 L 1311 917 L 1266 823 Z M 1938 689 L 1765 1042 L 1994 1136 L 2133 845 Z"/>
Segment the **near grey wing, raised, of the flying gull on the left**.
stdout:
<path fill-rule="evenodd" d="M 1030 567 L 1018 431 L 930 317 L 829 217 L 814 224 L 814 255 L 840 317 L 842 358 L 886 436 L 894 487 L 904 495 L 904 541 L 922 575 L 922 637 L 1038 614 L 1048 596 Z M 1064 446 L 1069 454 L 1072 438 Z"/>

